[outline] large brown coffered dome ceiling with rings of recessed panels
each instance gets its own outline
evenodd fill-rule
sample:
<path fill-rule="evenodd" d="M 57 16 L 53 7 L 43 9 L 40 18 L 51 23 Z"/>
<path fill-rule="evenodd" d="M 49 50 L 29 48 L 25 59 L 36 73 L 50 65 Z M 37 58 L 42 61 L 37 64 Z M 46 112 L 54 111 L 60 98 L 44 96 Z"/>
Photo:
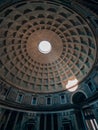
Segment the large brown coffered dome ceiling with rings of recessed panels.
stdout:
<path fill-rule="evenodd" d="M 49 44 L 40 48 L 43 41 Z M 0 12 L 0 77 L 13 87 L 59 92 L 68 89 L 69 81 L 76 81 L 69 85 L 75 87 L 88 75 L 95 59 L 92 29 L 67 6 L 26 1 Z"/>

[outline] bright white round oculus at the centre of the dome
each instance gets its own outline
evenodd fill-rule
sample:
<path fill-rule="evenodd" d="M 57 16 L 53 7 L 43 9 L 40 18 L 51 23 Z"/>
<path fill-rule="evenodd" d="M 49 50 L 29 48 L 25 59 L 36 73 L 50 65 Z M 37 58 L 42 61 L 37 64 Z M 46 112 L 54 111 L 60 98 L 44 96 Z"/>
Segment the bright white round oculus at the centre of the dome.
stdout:
<path fill-rule="evenodd" d="M 52 47 L 51 47 L 50 42 L 48 42 L 48 41 L 41 41 L 39 43 L 38 49 L 39 49 L 39 51 L 41 53 L 48 54 L 51 51 Z"/>

